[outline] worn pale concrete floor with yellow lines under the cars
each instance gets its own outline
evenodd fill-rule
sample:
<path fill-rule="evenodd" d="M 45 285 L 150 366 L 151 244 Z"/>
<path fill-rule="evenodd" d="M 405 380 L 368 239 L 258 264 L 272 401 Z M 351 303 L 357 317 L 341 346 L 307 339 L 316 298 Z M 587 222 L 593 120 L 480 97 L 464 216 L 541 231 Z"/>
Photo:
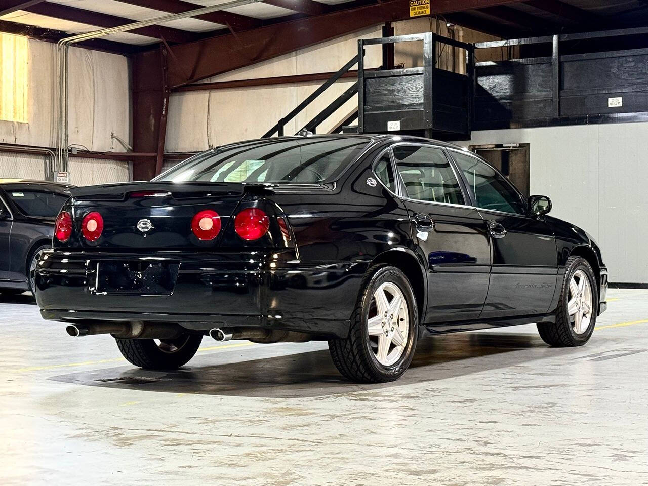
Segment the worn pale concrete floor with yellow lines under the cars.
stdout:
<path fill-rule="evenodd" d="M 584 347 L 533 325 L 437 336 L 372 386 L 323 343 L 205 338 L 181 371 L 142 371 L 0 297 L 0 484 L 648 485 L 648 291 L 608 296 Z"/>

